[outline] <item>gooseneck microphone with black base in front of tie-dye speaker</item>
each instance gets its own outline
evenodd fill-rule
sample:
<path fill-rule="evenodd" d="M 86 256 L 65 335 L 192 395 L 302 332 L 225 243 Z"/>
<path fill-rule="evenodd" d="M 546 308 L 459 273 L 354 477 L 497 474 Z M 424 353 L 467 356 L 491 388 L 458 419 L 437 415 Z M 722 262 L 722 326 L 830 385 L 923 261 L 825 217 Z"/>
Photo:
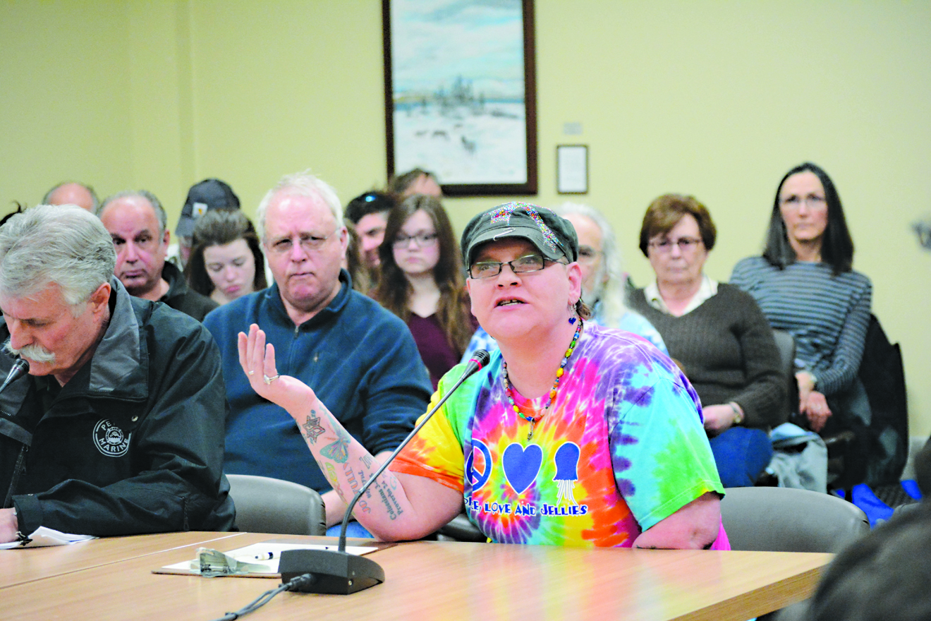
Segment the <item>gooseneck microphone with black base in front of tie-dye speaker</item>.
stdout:
<path fill-rule="evenodd" d="M 297 584 L 294 590 L 302 593 L 330 593 L 335 595 L 350 595 L 358 591 L 385 582 L 385 570 L 381 565 L 371 559 L 355 554 L 346 553 L 346 526 L 352 516 L 352 510 L 358 503 L 362 494 L 371 487 L 375 479 L 379 477 L 385 469 L 394 461 L 398 453 L 401 452 L 407 443 L 410 442 L 417 432 L 426 425 L 434 412 L 437 412 L 446 399 L 452 396 L 459 386 L 463 385 L 473 373 L 479 371 L 488 364 L 492 357 L 484 349 L 479 349 L 472 355 L 466 364 L 466 371 L 452 386 L 439 403 L 429 412 L 426 412 L 423 420 L 413 428 L 413 431 L 400 443 L 397 449 L 392 452 L 385 463 L 382 464 L 371 479 L 365 482 L 362 489 L 356 493 L 352 502 L 346 508 L 346 515 L 343 518 L 343 528 L 340 530 L 340 543 L 337 550 L 284 550 L 281 552 L 281 559 L 278 560 L 278 572 L 281 574 L 281 582 L 288 583 L 291 579 L 297 578 L 304 574 L 310 574 L 310 580 L 304 580 Z"/>

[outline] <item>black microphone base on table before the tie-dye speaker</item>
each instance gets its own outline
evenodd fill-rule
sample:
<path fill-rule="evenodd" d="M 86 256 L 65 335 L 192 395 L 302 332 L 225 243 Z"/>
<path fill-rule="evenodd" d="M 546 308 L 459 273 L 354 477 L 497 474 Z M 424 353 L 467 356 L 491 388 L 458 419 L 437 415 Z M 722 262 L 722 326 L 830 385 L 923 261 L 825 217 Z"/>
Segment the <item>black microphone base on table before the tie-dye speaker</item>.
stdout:
<path fill-rule="evenodd" d="M 278 560 L 281 582 L 311 574 L 310 585 L 302 593 L 350 595 L 385 582 L 385 570 L 374 560 L 335 550 L 285 550 Z"/>

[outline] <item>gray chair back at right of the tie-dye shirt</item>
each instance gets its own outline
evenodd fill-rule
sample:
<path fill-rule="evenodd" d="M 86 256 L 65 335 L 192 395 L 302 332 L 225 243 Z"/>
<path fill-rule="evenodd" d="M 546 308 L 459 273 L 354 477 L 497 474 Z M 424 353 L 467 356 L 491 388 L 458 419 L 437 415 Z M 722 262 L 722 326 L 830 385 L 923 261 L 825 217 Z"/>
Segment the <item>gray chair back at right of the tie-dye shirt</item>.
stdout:
<path fill-rule="evenodd" d="M 870 532 L 862 509 L 828 493 L 786 487 L 724 492 L 721 519 L 735 550 L 838 552 Z"/>

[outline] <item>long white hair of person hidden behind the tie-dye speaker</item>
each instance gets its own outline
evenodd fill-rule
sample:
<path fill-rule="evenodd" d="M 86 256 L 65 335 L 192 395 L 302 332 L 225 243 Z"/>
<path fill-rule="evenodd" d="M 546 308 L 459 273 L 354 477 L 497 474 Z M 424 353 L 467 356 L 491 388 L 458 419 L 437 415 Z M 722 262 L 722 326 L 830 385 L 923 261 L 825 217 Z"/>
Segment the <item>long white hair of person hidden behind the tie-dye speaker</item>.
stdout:
<path fill-rule="evenodd" d="M 601 212 L 589 205 L 581 203 L 563 203 L 553 209 L 560 216 L 570 213 L 585 216 L 597 226 L 601 232 L 601 262 L 596 275 L 597 289 L 593 291 L 593 300 L 585 302 L 593 306 L 600 303 L 598 309 L 599 321 L 605 326 L 616 326 L 617 322 L 627 313 L 627 304 L 624 302 L 624 262 L 621 250 L 614 236 L 614 227 L 601 215 Z M 607 275 L 607 282 L 602 280 Z"/>

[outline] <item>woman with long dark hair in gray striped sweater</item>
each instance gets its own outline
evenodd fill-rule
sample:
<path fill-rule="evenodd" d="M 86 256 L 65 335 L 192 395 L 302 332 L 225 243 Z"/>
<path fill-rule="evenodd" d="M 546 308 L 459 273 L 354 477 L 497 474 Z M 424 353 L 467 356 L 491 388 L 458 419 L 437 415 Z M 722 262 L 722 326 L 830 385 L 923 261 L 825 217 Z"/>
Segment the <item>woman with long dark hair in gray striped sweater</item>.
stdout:
<path fill-rule="evenodd" d="M 731 276 L 774 328 L 795 338 L 799 412 L 824 434 L 870 422 L 857 370 L 872 285 L 853 260 L 834 183 L 806 162 L 779 182 L 762 256 L 740 261 Z"/>

